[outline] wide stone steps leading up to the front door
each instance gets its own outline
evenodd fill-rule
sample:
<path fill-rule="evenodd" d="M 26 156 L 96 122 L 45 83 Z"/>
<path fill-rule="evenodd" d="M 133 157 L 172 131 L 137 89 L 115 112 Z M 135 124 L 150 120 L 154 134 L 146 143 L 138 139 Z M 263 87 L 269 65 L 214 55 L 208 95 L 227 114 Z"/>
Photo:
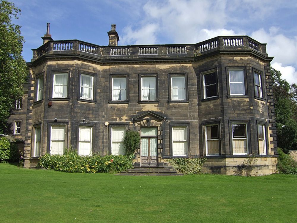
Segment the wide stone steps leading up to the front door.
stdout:
<path fill-rule="evenodd" d="M 182 173 L 176 171 L 172 167 L 134 167 L 134 169 L 128 169 L 115 175 L 121 176 L 139 176 L 139 175 L 157 175 L 157 176 L 180 176 Z"/>

